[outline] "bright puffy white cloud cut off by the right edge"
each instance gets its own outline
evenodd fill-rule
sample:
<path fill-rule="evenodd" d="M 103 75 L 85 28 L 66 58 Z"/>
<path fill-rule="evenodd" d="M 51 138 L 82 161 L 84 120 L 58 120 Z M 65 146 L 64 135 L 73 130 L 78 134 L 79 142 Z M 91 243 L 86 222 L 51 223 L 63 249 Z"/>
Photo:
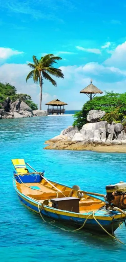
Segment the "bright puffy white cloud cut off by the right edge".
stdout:
<path fill-rule="evenodd" d="M 110 58 L 104 61 L 107 66 L 118 67 L 120 69 L 126 68 L 126 42 L 118 45 L 112 52 Z"/>

